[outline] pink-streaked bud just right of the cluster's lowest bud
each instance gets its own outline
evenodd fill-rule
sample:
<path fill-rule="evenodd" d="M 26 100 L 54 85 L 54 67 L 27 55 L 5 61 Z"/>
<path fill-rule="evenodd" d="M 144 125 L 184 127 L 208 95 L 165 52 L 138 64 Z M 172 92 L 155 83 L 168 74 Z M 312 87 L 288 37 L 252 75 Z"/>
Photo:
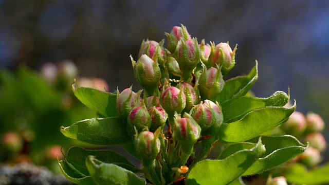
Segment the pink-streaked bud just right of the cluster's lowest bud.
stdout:
<path fill-rule="evenodd" d="M 201 128 L 189 114 L 185 113 L 184 116 L 185 118 L 175 118 L 175 136 L 181 144 L 182 151 L 189 154 L 200 137 Z"/>

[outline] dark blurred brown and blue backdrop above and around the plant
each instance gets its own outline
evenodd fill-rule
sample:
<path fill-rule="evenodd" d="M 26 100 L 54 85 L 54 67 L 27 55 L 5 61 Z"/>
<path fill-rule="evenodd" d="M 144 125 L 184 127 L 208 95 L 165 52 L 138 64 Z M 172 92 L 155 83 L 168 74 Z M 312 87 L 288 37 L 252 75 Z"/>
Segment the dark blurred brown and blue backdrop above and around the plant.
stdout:
<path fill-rule="evenodd" d="M 1 0 L 0 68 L 15 72 L 23 65 L 39 71 L 47 62 L 70 60 L 79 76 L 102 78 L 109 91 L 132 84 L 136 90 L 129 55 L 137 60 L 143 39 L 159 42 L 180 24 L 198 41 L 239 45 L 226 78 L 248 73 L 257 59 L 260 78 L 252 88 L 257 97 L 289 87 L 298 111 L 318 113 L 329 123 L 325 0 Z M 328 131 L 329 126 L 327 140 Z M 324 155 L 328 159 L 328 150 Z"/>

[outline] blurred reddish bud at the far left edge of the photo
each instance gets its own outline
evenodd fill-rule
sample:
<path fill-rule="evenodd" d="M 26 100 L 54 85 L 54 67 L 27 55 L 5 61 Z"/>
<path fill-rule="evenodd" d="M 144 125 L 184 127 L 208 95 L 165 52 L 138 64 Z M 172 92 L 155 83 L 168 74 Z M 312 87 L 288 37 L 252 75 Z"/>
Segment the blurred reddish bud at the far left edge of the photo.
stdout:
<path fill-rule="evenodd" d="M 21 137 L 14 132 L 6 133 L 2 138 L 2 144 L 4 149 L 11 154 L 20 153 L 23 147 L 23 141 Z"/>

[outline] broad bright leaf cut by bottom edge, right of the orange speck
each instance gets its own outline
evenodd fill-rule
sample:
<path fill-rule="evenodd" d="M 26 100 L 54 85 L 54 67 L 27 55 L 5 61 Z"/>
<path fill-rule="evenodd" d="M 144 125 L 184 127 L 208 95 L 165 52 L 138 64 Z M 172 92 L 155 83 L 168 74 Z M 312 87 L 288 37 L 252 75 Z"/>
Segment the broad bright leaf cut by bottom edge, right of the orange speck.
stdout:
<path fill-rule="evenodd" d="M 228 184 L 239 178 L 264 152 L 261 139 L 252 149 L 236 152 L 223 160 L 203 160 L 191 169 L 187 184 Z"/>

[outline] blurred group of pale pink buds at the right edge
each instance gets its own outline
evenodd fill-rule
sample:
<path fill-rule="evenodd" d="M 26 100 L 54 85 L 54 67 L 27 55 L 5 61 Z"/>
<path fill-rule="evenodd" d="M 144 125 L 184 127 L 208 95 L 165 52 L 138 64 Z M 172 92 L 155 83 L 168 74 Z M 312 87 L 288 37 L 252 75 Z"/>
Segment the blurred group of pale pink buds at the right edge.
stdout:
<path fill-rule="evenodd" d="M 324 129 L 324 121 L 316 113 L 294 112 L 289 120 L 280 126 L 286 134 L 291 134 L 305 142 L 308 142 L 306 151 L 297 157 L 298 162 L 307 167 L 315 167 L 321 162 L 321 153 L 326 149 L 326 140 L 321 134 Z"/>

